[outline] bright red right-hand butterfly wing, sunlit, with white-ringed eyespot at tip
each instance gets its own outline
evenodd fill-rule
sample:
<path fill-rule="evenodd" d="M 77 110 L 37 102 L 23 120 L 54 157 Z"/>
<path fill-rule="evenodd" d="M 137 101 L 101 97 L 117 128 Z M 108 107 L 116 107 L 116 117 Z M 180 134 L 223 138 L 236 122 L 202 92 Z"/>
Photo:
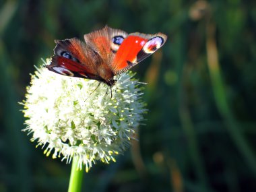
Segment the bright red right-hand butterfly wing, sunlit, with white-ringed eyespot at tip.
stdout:
<path fill-rule="evenodd" d="M 146 57 L 152 55 L 166 42 L 167 36 L 162 33 L 131 33 L 119 46 L 117 54 L 110 64 L 115 75 L 127 71 Z"/>

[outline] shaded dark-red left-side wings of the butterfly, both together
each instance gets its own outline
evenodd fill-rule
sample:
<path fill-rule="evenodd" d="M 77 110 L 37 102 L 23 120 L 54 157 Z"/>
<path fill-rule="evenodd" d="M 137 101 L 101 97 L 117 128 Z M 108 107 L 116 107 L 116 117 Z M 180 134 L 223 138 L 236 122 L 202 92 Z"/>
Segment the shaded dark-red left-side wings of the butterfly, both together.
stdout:
<path fill-rule="evenodd" d="M 77 38 L 55 40 L 51 65 L 46 67 L 55 73 L 72 77 L 101 80 L 96 67 L 102 63 L 100 56 Z"/>

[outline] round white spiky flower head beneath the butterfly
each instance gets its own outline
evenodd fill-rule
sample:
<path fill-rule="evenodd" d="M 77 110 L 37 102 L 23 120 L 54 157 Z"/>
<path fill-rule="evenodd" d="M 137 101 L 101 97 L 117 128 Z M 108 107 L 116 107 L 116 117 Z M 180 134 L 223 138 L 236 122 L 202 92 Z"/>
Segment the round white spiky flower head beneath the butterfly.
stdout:
<path fill-rule="evenodd" d="M 129 147 L 146 113 L 141 88 L 132 78 L 131 72 L 117 76 L 110 90 L 95 80 L 37 69 L 22 103 L 28 118 L 24 131 L 44 148 L 46 156 L 62 156 L 67 163 L 78 158 L 79 168 L 85 165 L 86 171 L 97 160 L 115 162 L 115 156 Z"/>

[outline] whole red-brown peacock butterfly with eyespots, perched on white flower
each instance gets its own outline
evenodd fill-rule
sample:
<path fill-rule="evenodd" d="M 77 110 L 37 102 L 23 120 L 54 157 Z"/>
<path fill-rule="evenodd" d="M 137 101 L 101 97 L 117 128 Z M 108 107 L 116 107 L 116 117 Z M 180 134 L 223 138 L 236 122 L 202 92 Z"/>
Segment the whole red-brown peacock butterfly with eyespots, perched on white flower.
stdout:
<path fill-rule="evenodd" d="M 85 34 L 85 42 L 78 38 L 55 40 L 55 55 L 46 68 L 61 75 L 94 79 L 111 87 L 115 84 L 115 75 L 152 55 L 166 39 L 160 32 L 127 34 L 105 26 Z"/>

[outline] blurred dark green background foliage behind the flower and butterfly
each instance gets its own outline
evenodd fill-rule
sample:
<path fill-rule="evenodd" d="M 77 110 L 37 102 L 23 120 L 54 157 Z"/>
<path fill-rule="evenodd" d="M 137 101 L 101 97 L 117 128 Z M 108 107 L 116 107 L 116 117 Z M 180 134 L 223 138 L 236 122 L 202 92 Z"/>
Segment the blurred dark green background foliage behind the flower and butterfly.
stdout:
<path fill-rule="evenodd" d="M 256 191 L 256 1 L 0 0 L 0 191 L 67 191 L 71 165 L 21 130 L 34 65 L 55 39 L 108 24 L 168 35 L 132 70 L 148 115 L 139 142 L 96 164 L 84 191 Z"/>

